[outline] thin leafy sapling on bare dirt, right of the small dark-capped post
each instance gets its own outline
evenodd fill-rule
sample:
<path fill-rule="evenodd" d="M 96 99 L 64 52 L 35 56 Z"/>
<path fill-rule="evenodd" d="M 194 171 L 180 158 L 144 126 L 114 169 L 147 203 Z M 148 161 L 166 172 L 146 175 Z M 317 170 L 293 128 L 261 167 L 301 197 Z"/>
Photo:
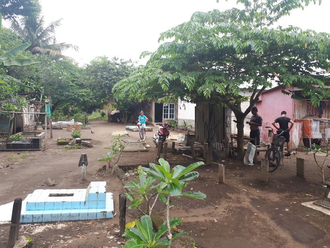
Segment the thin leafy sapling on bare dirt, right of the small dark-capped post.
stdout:
<path fill-rule="evenodd" d="M 112 165 L 112 172 L 111 174 L 113 175 L 113 172 L 116 168 L 116 165 L 120 159 L 120 156 L 124 150 L 124 148 L 128 145 L 127 142 L 122 140 L 122 136 L 112 136 L 112 142 L 110 144 L 110 147 L 104 147 L 103 149 L 110 149 L 109 152 L 106 154 L 103 154 L 103 158 L 99 158 L 98 161 L 100 162 L 107 162 L 108 168 Z"/>

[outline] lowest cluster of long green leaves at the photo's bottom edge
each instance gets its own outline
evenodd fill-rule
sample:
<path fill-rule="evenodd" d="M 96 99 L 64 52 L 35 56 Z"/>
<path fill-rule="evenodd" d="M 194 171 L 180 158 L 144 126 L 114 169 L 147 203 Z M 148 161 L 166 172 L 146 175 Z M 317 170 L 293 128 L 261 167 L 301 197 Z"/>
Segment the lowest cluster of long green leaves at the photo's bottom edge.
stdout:
<path fill-rule="evenodd" d="M 158 232 L 153 231 L 152 220 L 149 215 L 143 215 L 141 221 L 136 220 L 136 228 L 129 227 L 123 234 L 124 237 L 132 239 L 125 244 L 125 248 L 156 248 L 159 246 L 170 246 L 171 240 L 167 239 L 166 221 L 159 227 Z M 169 220 L 170 228 L 181 223 L 181 219 L 173 218 Z M 189 232 L 173 233 L 172 238 L 187 235 Z"/>

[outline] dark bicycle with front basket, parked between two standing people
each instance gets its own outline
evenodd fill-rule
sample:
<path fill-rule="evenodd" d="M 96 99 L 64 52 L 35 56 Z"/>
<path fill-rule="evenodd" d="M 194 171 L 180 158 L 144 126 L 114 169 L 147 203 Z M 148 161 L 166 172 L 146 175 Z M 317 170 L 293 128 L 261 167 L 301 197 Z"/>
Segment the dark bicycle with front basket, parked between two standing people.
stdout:
<path fill-rule="evenodd" d="M 279 134 L 275 134 L 272 127 L 265 128 L 270 128 L 273 134 L 273 141 L 271 142 L 271 146 L 264 155 L 264 158 L 269 161 L 268 172 L 273 172 L 280 165 L 281 159 L 283 161 L 285 137 L 281 136 L 281 134 L 283 134 L 284 131 Z"/>

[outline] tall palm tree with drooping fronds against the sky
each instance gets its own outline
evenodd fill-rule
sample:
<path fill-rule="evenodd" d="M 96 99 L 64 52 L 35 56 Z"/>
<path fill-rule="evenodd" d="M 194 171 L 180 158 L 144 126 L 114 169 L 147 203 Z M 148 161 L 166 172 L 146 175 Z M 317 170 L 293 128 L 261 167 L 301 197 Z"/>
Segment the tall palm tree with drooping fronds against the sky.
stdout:
<path fill-rule="evenodd" d="M 39 4 L 36 1 L 35 4 Z M 16 17 L 11 18 L 11 30 L 19 35 L 23 41 L 30 41 L 32 44 L 27 49 L 33 54 L 44 54 L 52 57 L 65 57 L 62 51 L 73 48 L 78 51 L 78 47 L 72 44 L 57 43 L 55 38 L 55 29 L 61 26 L 61 20 L 50 23 L 44 27 L 44 17 L 40 15 L 41 7 L 38 11 L 24 16 L 18 20 Z"/>

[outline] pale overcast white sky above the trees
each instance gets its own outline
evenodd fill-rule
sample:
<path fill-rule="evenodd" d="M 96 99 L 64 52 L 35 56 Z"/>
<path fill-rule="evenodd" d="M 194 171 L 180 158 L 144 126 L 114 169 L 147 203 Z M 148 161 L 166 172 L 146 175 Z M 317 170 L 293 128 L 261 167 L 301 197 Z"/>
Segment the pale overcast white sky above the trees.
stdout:
<path fill-rule="evenodd" d="M 42 12 L 48 24 L 63 18 L 56 30 L 57 42 L 79 46 L 79 52 L 64 54 L 80 65 L 97 56 L 114 56 L 139 61 L 143 51 L 159 46 L 160 33 L 190 19 L 196 11 L 215 8 L 225 10 L 236 0 L 41 0 Z M 321 6 L 310 5 L 304 11 L 294 11 L 281 20 L 281 26 L 294 25 L 302 29 L 330 33 L 330 0 Z M 139 61 L 144 64 L 146 61 Z"/>

